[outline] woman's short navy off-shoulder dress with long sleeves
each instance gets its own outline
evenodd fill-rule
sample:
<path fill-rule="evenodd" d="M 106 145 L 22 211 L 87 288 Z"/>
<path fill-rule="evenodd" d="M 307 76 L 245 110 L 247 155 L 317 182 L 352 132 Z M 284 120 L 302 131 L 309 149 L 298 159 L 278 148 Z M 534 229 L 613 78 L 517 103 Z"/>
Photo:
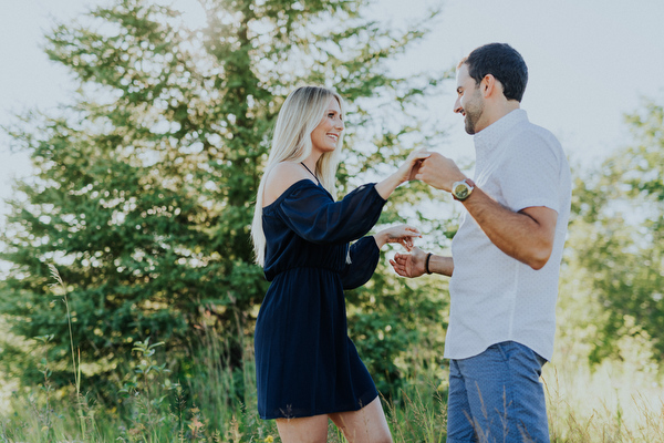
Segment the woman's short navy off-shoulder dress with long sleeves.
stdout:
<path fill-rule="evenodd" d="M 364 285 L 375 270 L 378 247 L 360 237 L 384 204 L 373 184 L 334 202 L 302 179 L 263 208 L 271 285 L 255 332 L 261 419 L 356 411 L 377 396 L 347 336 L 343 290 Z"/>

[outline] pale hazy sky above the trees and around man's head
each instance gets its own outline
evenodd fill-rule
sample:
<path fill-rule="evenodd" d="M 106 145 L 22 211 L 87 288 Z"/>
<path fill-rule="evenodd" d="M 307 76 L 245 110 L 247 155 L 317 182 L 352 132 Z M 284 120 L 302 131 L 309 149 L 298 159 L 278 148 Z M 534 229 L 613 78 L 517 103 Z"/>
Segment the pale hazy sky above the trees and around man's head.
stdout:
<path fill-rule="evenodd" d="M 166 1 L 166 0 L 162 0 Z M 196 0 L 176 0 L 191 24 Z M 41 50 L 53 18 L 70 20 L 101 0 L 0 0 L 0 125 L 13 112 L 52 110 L 75 87 L 66 70 Z M 376 0 L 373 14 L 392 20 L 421 14 L 436 0 Z M 522 102 L 531 122 L 552 131 L 572 163 L 596 164 L 629 143 L 625 113 L 642 97 L 664 102 L 664 1 L 662 0 L 447 0 L 436 28 L 396 68 L 400 72 L 445 70 L 473 49 L 507 42 L 529 68 Z M 449 126 L 439 151 L 474 157 L 473 138 L 452 112 L 455 85 L 433 112 Z M 429 104 L 432 105 L 432 104 Z M 12 177 L 29 176 L 24 154 L 11 154 L 0 134 L 0 217 Z M 0 222 L 0 226 L 2 223 Z"/>

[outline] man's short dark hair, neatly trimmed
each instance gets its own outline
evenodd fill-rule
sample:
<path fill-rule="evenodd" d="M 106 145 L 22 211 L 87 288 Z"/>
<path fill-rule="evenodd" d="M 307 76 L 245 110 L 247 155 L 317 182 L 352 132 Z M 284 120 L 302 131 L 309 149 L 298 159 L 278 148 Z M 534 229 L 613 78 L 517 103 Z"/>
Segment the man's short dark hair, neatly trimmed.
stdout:
<path fill-rule="evenodd" d="M 468 65 L 468 74 L 479 84 L 491 74 L 502 84 L 507 100 L 521 102 L 528 83 L 528 66 L 521 54 L 507 43 L 489 43 L 475 49 L 460 61 Z"/>

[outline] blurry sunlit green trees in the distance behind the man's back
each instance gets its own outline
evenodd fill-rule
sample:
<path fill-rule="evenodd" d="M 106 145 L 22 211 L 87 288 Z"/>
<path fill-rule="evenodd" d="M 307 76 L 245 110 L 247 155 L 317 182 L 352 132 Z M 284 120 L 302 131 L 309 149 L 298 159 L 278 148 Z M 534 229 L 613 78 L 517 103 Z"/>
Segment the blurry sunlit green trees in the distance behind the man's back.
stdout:
<path fill-rule="evenodd" d="M 632 147 L 578 177 L 571 240 L 574 260 L 601 306 L 599 361 L 623 336 L 652 340 L 664 358 L 664 112 L 655 103 L 627 117 Z"/>

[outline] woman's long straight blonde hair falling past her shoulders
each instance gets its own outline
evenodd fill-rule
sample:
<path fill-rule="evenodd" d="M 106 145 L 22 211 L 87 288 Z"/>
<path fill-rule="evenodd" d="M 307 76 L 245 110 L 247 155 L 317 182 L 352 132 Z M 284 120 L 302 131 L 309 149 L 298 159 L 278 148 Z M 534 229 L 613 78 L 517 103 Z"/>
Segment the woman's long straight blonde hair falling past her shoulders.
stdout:
<path fill-rule="evenodd" d="M 256 195 L 256 208 L 251 224 L 256 262 L 261 266 L 263 266 L 266 259 L 266 235 L 262 229 L 262 202 L 266 178 L 279 163 L 302 162 L 311 155 L 311 133 L 325 115 L 331 97 L 336 99 L 341 114 L 344 115 L 344 103 L 341 96 L 334 91 L 321 86 L 298 87 L 289 94 L 279 111 L 270 156 Z M 336 199 L 334 184 L 336 167 L 341 159 L 342 137 L 343 133 L 339 137 L 336 150 L 321 155 L 314 171 L 321 185 L 332 194 L 334 199 Z"/>

